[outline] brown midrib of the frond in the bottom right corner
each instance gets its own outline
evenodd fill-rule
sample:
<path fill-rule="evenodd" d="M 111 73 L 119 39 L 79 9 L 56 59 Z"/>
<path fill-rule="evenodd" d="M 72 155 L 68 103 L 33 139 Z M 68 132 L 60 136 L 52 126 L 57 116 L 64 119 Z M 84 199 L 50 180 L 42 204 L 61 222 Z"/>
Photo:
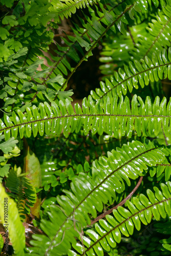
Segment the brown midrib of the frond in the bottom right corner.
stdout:
<path fill-rule="evenodd" d="M 103 237 L 101 237 L 101 238 L 98 239 L 94 244 L 92 244 L 92 245 L 86 250 L 86 252 L 89 251 L 92 247 L 94 247 L 97 243 L 99 243 L 99 241 L 101 241 L 104 237 L 108 236 L 108 234 L 110 234 L 112 231 L 114 231 L 116 228 L 118 228 L 119 226 L 121 226 L 121 225 L 122 225 L 123 223 L 125 223 L 126 221 L 128 221 L 128 220 L 130 220 L 131 218 L 135 217 L 136 215 L 140 214 L 140 213 L 141 213 L 142 211 L 144 211 L 144 210 L 147 210 L 147 209 L 149 209 L 149 208 L 151 208 L 151 207 L 153 207 L 153 206 L 155 206 L 155 205 L 158 205 L 158 204 L 167 202 L 167 201 L 169 201 L 169 200 L 171 200 L 171 198 L 164 199 L 164 200 L 162 200 L 162 201 L 160 201 L 160 202 L 154 203 L 154 204 L 152 204 L 152 205 L 149 205 L 149 206 L 145 207 L 144 209 L 141 209 L 141 210 L 137 211 L 134 215 L 128 217 L 126 220 L 124 220 L 124 221 L 122 221 L 121 223 L 119 223 L 116 227 L 114 227 L 113 229 L 111 229 L 109 232 L 105 233 L 105 234 L 103 235 Z M 135 227 L 135 225 L 134 225 L 134 227 Z M 86 254 L 83 253 L 83 254 L 81 254 L 80 256 L 83 256 L 83 255 L 86 255 Z"/>

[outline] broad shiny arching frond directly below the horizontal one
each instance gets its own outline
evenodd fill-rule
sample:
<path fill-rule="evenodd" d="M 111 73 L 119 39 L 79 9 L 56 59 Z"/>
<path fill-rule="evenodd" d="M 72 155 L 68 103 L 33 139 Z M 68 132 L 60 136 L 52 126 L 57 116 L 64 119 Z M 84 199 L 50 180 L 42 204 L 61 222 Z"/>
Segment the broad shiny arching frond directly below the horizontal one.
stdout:
<path fill-rule="evenodd" d="M 101 212 L 103 203 L 116 199 L 115 193 L 124 190 L 123 180 L 131 185 L 130 178 L 136 179 L 144 174 L 147 166 L 161 163 L 164 154 L 168 155 L 168 152 L 162 147 L 155 147 L 150 141 L 144 144 L 134 141 L 109 152 L 108 158 L 96 160 L 93 163 L 92 179 L 83 173 L 79 174 L 72 181 L 71 190 L 63 190 L 66 196 L 57 197 L 60 207 L 50 206 L 50 221 L 42 220 L 40 224 L 49 238 L 34 236 L 33 254 L 67 253 L 70 243 L 75 243 L 74 237 L 91 223 L 89 214 L 96 218 L 96 210 Z"/>

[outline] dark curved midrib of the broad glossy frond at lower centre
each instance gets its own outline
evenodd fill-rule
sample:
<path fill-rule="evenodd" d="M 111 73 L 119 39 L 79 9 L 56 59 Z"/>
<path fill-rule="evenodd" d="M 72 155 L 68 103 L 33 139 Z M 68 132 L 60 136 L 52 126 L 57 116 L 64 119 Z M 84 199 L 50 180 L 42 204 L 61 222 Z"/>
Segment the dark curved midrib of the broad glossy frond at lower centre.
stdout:
<path fill-rule="evenodd" d="M 126 164 L 129 164 L 131 161 L 135 160 L 136 158 L 139 158 L 141 155 L 143 155 L 143 154 L 145 154 L 145 153 L 147 153 L 147 152 L 149 152 L 149 151 L 154 150 L 155 148 L 157 148 L 157 147 L 151 148 L 150 150 L 147 150 L 147 151 L 145 151 L 145 152 L 143 152 L 143 153 L 137 155 L 136 157 L 130 159 L 129 161 L 127 161 L 126 163 L 124 163 L 124 164 L 122 164 L 120 167 L 118 167 L 116 170 L 114 170 L 114 171 L 113 171 L 110 175 L 108 175 L 102 182 L 100 182 L 100 184 L 98 184 L 98 185 L 97 185 L 97 186 L 96 186 L 96 187 L 95 187 L 95 188 L 94 188 L 94 189 L 93 189 L 93 190 L 92 190 L 75 208 L 74 208 L 74 211 L 73 211 L 73 212 L 75 212 L 75 210 L 82 204 L 83 201 L 85 201 L 85 200 L 93 193 L 93 191 L 94 191 L 95 189 L 97 189 L 102 183 L 104 183 L 105 180 L 107 180 L 110 176 L 112 176 L 112 175 L 113 175 L 115 172 L 117 172 L 120 168 L 124 167 Z M 59 231 L 61 230 L 61 228 L 63 227 L 63 225 L 65 225 L 65 223 L 68 221 L 68 219 L 72 216 L 73 212 L 71 212 L 71 214 L 67 217 L 67 219 L 66 219 L 66 220 L 62 223 L 62 225 L 60 226 L 60 228 L 59 228 L 59 230 L 57 231 L 55 237 L 54 237 L 53 240 L 51 241 L 51 244 L 50 244 L 50 246 L 49 246 L 47 252 L 48 252 L 51 248 L 53 248 L 53 246 L 52 246 L 53 241 L 54 241 L 55 238 L 57 237 L 57 235 L 58 235 Z M 45 255 L 47 255 L 47 254 L 45 254 Z"/>

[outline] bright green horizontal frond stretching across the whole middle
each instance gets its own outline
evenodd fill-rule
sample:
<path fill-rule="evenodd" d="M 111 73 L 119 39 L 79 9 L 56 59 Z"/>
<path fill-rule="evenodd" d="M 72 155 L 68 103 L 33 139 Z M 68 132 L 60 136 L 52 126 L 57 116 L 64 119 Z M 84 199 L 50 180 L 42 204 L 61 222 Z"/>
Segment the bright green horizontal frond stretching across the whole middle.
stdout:
<path fill-rule="evenodd" d="M 138 104 L 140 105 L 138 107 Z M 34 137 L 39 132 L 40 136 L 45 133 L 48 135 L 60 134 L 63 129 L 63 134 L 68 136 L 74 131 L 77 133 L 82 129 L 84 135 L 87 135 L 90 130 L 92 133 L 101 135 L 104 131 L 109 135 L 114 134 L 118 138 L 127 134 L 129 138 L 132 136 L 133 130 L 138 136 L 141 133 L 147 137 L 153 134 L 158 135 L 163 127 L 166 136 L 170 133 L 170 117 L 171 117 L 171 98 L 166 106 L 166 98 L 163 98 L 161 103 L 157 96 L 154 103 L 147 96 L 145 103 L 141 97 L 134 95 L 130 108 L 130 100 L 125 97 L 115 95 L 110 101 L 109 97 L 104 100 L 98 100 L 93 103 L 92 97 L 83 99 L 82 110 L 78 103 L 75 104 L 75 112 L 71 102 L 67 99 L 66 105 L 59 101 L 59 108 L 55 102 L 50 106 L 47 102 L 39 104 L 39 110 L 33 105 L 32 110 L 26 109 L 27 114 L 21 111 L 12 113 L 12 117 L 4 115 L 4 122 L 0 120 L 0 132 L 4 133 L 5 139 L 10 136 L 16 138 L 19 135 L 23 138 L 24 132 L 27 137 L 33 133 Z"/>

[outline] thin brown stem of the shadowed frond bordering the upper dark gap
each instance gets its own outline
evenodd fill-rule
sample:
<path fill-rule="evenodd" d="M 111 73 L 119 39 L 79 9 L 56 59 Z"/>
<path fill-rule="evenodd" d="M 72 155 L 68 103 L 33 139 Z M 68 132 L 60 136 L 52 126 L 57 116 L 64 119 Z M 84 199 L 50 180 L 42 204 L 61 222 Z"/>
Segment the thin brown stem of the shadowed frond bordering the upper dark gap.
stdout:
<path fill-rule="evenodd" d="M 118 21 L 119 18 L 121 18 L 127 11 L 129 11 L 134 5 L 131 5 L 129 8 L 125 9 L 115 20 L 114 22 L 108 26 L 106 28 L 106 30 L 100 35 L 100 37 L 94 42 L 94 44 L 92 45 L 92 47 L 84 54 L 84 56 L 80 59 L 80 61 L 77 63 L 77 65 L 75 66 L 75 68 L 73 69 L 73 71 L 70 73 L 70 75 L 68 76 L 67 80 L 63 83 L 62 87 L 60 90 L 63 89 L 63 87 L 65 87 L 65 85 L 68 83 L 69 79 L 71 78 L 71 76 L 73 75 L 73 73 L 76 71 L 76 69 L 81 65 L 82 61 L 84 60 L 84 58 L 86 58 L 88 56 L 88 54 L 96 47 L 96 45 L 98 44 L 99 40 L 106 34 L 106 32 L 108 32 L 108 30 Z M 56 96 L 57 97 L 57 96 Z"/>

